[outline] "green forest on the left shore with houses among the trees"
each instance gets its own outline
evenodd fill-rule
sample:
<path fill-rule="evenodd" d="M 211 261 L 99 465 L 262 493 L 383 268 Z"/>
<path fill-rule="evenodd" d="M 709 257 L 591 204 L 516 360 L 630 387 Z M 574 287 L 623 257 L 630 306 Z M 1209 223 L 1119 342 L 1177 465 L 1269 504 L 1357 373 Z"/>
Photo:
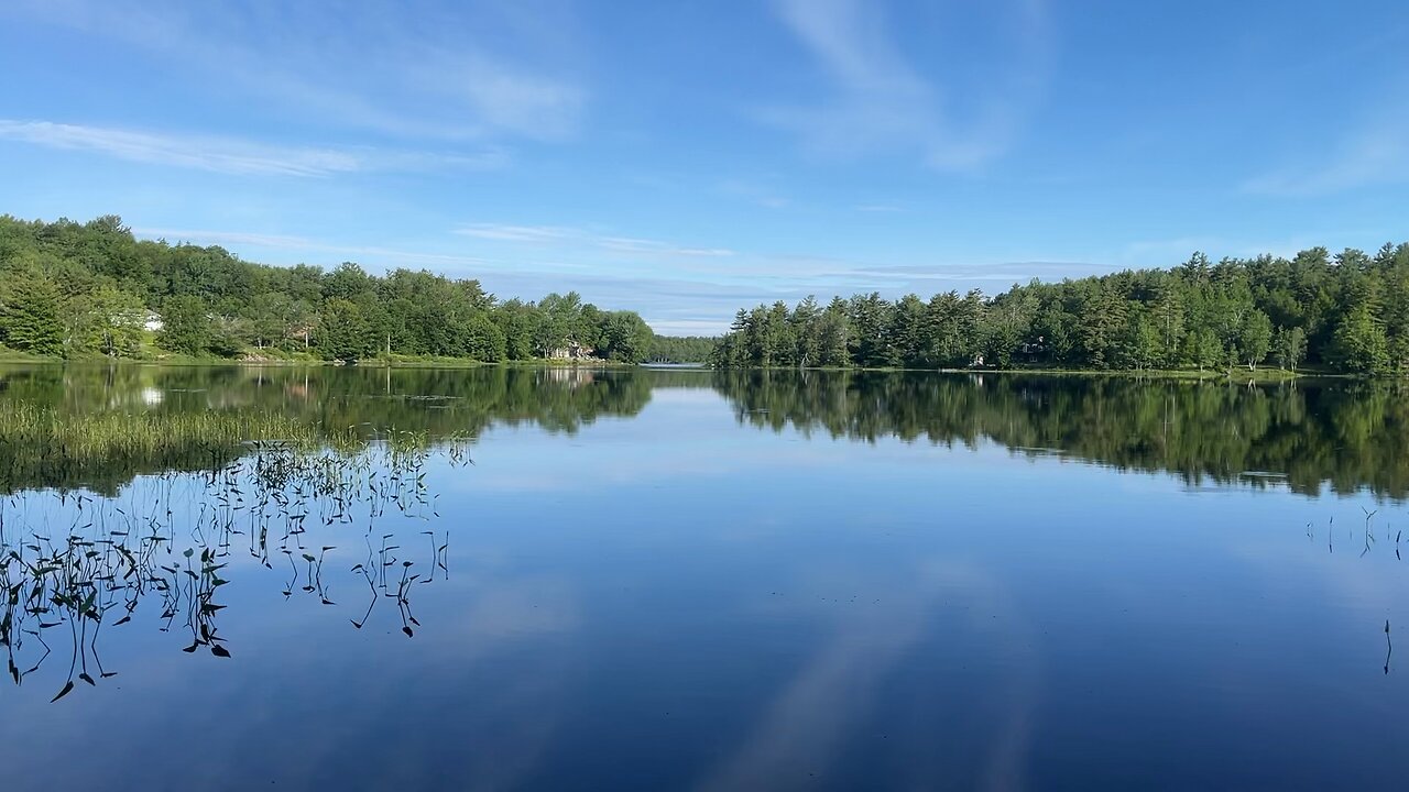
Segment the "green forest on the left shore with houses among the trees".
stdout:
<path fill-rule="evenodd" d="M 138 241 L 114 216 L 0 216 L 0 345 L 41 357 L 635 364 L 651 358 L 652 342 L 634 311 L 604 311 L 575 292 L 499 300 L 478 280 L 426 271 L 280 268 L 220 247 Z"/>

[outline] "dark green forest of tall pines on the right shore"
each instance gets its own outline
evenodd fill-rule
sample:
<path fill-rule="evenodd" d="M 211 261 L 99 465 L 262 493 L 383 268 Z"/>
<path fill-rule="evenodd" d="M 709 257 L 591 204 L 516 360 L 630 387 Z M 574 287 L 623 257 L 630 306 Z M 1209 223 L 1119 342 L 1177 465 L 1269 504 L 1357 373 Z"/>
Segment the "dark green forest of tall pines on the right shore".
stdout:
<path fill-rule="evenodd" d="M 1409 244 L 1375 255 L 1193 254 L 1174 269 L 947 292 L 807 297 L 740 310 L 720 368 L 1286 369 L 1409 373 Z"/>

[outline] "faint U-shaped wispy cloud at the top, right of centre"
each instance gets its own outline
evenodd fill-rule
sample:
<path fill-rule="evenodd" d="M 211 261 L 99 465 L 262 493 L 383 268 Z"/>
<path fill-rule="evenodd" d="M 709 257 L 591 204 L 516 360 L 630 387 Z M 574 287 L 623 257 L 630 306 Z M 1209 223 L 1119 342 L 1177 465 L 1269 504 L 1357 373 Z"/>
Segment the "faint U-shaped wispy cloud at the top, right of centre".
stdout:
<path fill-rule="evenodd" d="M 972 117 L 960 118 L 902 55 L 879 3 L 775 0 L 779 18 L 828 75 L 833 97 L 821 107 L 775 107 L 764 120 L 796 131 L 816 154 L 914 151 L 933 168 L 976 168 L 1010 145 L 1041 83 L 1044 3 L 1014 1 L 1006 72 L 991 80 Z"/>

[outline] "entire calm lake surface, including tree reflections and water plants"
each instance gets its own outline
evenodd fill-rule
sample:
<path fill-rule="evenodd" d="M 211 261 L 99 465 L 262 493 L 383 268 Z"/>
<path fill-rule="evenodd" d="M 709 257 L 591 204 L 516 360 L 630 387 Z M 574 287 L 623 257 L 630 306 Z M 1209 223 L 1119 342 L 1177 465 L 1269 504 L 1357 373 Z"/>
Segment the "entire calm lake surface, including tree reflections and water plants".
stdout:
<path fill-rule="evenodd" d="M 1405 404 L 0 369 L 4 786 L 1403 788 Z"/>

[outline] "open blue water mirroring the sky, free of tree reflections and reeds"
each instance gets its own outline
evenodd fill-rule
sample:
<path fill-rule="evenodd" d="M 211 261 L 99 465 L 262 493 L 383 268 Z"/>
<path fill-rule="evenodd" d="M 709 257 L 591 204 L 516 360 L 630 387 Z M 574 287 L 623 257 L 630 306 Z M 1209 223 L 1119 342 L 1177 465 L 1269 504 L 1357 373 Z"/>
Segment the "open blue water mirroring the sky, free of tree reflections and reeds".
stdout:
<path fill-rule="evenodd" d="M 144 607 L 103 634 L 117 676 L 0 689 L 13 788 L 1405 782 L 1394 503 L 775 433 L 706 388 L 472 457 L 431 458 L 440 517 L 376 527 L 426 559 L 448 531 L 413 638 L 386 603 L 349 624 L 361 527 L 309 538 L 335 606 L 234 552 L 231 658 Z"/>

